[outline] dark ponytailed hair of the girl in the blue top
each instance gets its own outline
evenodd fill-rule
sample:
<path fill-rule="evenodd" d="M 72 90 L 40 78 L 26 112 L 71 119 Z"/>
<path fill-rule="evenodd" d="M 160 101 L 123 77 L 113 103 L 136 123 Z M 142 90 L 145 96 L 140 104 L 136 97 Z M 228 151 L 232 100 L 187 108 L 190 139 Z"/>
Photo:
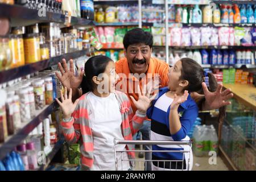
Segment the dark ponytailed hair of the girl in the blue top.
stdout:
<path fill-rule="evenodd" d="M 202 82 L 204 82 L 205 72 L 204 69 L 198 64 L 195 60 L 189 59 L 185 57 L 181 60 L 182 69 L 181 69 L 181 79 L 188 80 L 188 86 L 185 88 L 188 92 L 197 92 L 200 94 L 204 94 L 202 88 Z M 209 91 L 215 92 L 217 90 L 217 80 L 214 77 L 213 73 L 207 73 L 209 77 Z M 203 103 L 205 102 L 205 98 L 196 101 L 200 110 L 203 110 Z M 226 107 L 220 107 L 218 121 L 221 121 L 225 117 L 225 109 Z"/>

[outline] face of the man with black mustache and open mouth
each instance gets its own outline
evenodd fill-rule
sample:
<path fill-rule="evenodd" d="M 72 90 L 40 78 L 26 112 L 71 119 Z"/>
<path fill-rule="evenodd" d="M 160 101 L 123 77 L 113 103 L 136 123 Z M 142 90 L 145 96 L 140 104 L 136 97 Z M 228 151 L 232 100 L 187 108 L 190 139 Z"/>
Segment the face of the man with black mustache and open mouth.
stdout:
<path fill-rule="evenodd" d="M 131 73 L 146 73 L 150 63 L 152 49 L 143 44 L 130 45 L 125 50 L 129 69 Z"/>

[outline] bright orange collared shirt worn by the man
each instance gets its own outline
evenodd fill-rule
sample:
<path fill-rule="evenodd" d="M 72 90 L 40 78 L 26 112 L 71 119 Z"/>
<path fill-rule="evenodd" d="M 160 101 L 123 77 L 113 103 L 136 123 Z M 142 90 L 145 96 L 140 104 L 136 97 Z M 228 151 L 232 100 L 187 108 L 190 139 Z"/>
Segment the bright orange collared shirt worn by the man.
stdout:
<path fill-rule="evenodd" d="M 159 85 L 161 85 L 162 87 L 167 86 L 168 80 L 169 80 L 167 75 L 168 68 L 169 68 L 168 64 L 163 60 L 159 60 L 155 57 L 151 57 L 150 63 L 148 65 L 148 70 L 146 73 L 147 78 L 150 77 L 149 75 L 152 75 L 152 77 L 154 77 L 155 74 L 158 74 L 160 77 Z M 138 92 L 135 93 L 135 89 L 137 90 L 137 86 L 135 86 L 135 82 L 138 83 L 138 79 L 131 75 L 129 77 L 130 69 L 129 69 L 129 65 L 126 57 L 123 57 L 122 59 L 120 59 L 115 63 L 115 71 L 117 74 L 120 75 L 121 73 L 123 73 L 123 76 L 125 76 L 124 79 L 120 78 L 121 80 L 118 81 L 116 85 L 117 90 L 120 90 L 118 88 L 121 87 L 120 91 L 125 92 L 129 97 L 130 101 L 131 101 L 130 96 L 133 96 L 135 100 L 138 100 L 138 94 L 137 94 Z M 126 84 L 126 85 L 123 85 L 123 84 Z M 139 85 L 142 90 L 142 79 L 139 81 Z M 135 107 L 135 105 L 133 104 L 133 101 L 131 101 L 131 106 L 133 107 L 133 113 L 135 113 L 135 111 L 137 110 L 137 107 Z"/>

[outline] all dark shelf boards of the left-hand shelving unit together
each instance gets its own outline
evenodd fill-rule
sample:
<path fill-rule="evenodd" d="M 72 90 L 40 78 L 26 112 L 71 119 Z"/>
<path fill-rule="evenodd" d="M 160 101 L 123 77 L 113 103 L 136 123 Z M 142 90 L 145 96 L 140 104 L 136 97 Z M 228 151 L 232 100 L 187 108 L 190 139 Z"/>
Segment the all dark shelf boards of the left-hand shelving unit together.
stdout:
<path fill-rule="evenodd" d="M 11 27 L 29 26 L 35 23 L 50 22 L 60 23 L 60 27 L 67 27 L 67 17 L 64 14 L 46 11 L 46 16 L 40 17 L 38 15 L 38 10 L 28 9 L 27 7 L 19 5 L 6 5 L 0 3 L 0 17 L 9 18 Z M 71 26 L 77 27 L 95 26 L 95 22 L 93 20 L 78 18 L 75 16 L 71 16 L 71 22 L 68 23 L 70 23 Z M 15 78 L 29 75 L 31 73 L 43 71 L 46 68 L 56 65 L 62 59 L 66 59 L 68 61 L 70 59 L 76 59 L 78 57 L 84 56 L 90 52 L 92 52 L 91 49 L 84 49 L 81 51 L 75 51 L 71 53 L 66 53 L 64 55 L 51 57 L 50 59 L 42 60 L 36 63 L 26 64 L 22 67 L 1 71 L 0 84 L 14 80 Z M 44 109 L 36 111 L 35 117 L 32 118 L 31 121 L 22 123 L 20 129 L 16 131 L 14 135 L 10 135 L 6 138 L 4 143 L 0 144 L 0 160 L 4 159 L 7 153 L 13 151 L 18 144 L 26 139 L 28 134 L 30 134 L 31 131 L 39 125 L 39 123 L 43 122 L 43 120 L 47 118 L 48 115 L 52 113 L 52 111 L 56 110 L 57 107 L 58 104 L 56 101 L 54 101 L 51 105 L 45 106 Z M 59 151 L 63 143 L 64 137 L 60 135 L 58 142 L 54 146 L 52 146 L 52 151 L 48 154 L 46 158 L 46 164 L 40 166 L 39 170 L 44 170 L 47 168 L 48 164 L 53 159 L 53 156 L 55 156 L 56 152 Z"/>

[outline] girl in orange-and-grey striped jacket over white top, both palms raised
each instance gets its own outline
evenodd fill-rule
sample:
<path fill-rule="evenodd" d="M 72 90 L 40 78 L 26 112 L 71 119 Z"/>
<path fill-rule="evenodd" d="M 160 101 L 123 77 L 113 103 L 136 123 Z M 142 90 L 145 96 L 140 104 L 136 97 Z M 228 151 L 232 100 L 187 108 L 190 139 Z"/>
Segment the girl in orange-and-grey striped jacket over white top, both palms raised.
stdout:
<path fill-rule="evenodd" d="M 132 140 L 146 119 L 146 111 L 153 97 L 151 89 L 142 94 L 138 86 L 139 99 L 133 100 L 137 111 L 133 115 L 131 103 L 125 93 L 115 90 L 118 75 L 115 73 L 114 61 L 106 56 L 91 57 L 85 63 L 85 76 L 81 88 L 83 95 L 72 102 L 72 89 L 61 101 L 63 111 L 61 126 L 69 144 L 79 142 L 81 151 L 81 169 L 115 170 L 114 139 Z M 118 145 L 117 150 L 133 150 L 133 145 Z M 130 169 L 128 159 L 134 159 L 134 152 L 122 154 L 122 164 L 118 169 Z M 117 156 L 121 162 L 121 154 Z"/>

